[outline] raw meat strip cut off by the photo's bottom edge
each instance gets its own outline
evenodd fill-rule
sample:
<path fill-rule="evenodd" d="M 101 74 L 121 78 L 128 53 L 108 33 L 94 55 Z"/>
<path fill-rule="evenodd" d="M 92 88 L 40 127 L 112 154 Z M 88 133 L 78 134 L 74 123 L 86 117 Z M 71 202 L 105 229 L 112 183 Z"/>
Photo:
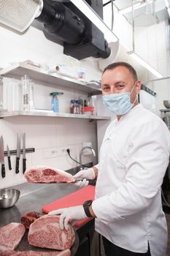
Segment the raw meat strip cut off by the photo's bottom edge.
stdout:
<path fill-rule="evenodd" d="M 69 249 L 65 249 L 62 252 L 5 251 L 0 252 L 0 256 L 71 256 L 71 252 Z"/>

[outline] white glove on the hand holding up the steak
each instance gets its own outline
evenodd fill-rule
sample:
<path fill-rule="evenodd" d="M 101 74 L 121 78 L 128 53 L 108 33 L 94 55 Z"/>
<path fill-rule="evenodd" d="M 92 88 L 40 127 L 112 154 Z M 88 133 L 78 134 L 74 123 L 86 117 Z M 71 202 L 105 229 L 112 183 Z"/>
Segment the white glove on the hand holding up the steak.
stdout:
<path fill-rule="evenodd" d="M 84 169 L 84 170 L 80 170 L 78 173 L 76 173 L 74 175 L 74 178 L 77 180 L 77 182 L 75 183 L 75 185 L 77 187 L 86 187 L 89 184 L 89 181 L 86 180 L 86 178 L 88 179 L 94 179 L 95 178 L 95 173 L 93 168 L 88 168 L 88 169 Z M 78 181 L 80 178 L 83 178 L 82 181 Z"/>

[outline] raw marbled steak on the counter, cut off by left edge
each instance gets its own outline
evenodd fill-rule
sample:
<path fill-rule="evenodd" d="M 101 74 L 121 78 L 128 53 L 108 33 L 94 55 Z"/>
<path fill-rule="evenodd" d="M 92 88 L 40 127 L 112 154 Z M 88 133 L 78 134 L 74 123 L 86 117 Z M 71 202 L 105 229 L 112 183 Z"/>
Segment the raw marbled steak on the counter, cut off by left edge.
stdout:
<path fill-rule="evenodd" d="M 26 228 L 23 224 L 11 222 L 0 228 L 0 252 L 13 250 L 20 243 Z"/>

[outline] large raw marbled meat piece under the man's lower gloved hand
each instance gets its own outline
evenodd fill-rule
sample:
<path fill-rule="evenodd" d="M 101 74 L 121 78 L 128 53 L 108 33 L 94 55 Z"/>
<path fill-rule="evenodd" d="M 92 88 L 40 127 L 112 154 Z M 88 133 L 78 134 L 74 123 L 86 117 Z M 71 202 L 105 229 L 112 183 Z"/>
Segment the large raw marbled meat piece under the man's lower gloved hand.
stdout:
<path fill-rule="evenodd" d="M 28 242 L 34 246 L 50 249 L 70 249 L 75 241 L 74 229 L 61 230 L 59 217 L 45 215 L 36 219 L 29 227 Z"/>

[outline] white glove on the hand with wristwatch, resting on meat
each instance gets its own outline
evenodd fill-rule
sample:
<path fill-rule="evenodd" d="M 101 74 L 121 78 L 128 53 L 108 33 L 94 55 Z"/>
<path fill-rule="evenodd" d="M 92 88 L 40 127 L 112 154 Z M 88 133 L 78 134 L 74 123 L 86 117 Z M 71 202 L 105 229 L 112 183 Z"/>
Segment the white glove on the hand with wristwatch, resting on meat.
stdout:
<path fill-rule="evenodd" d="M 85 210 L 83 206 L 73 206 L 69 208 L 61 208 L 55 211 L 50 211 L 48 215 L 58 215 L 61 214 L 60 216 L 60 228 L 63 230 L 65 228 L 68 230 L 69 228 L 69 220 L 80 220 L 80 219 L 85 219 L 87 218 L 85 214 Z M 75 224 L 75 221 L 74 221 Z"/>

